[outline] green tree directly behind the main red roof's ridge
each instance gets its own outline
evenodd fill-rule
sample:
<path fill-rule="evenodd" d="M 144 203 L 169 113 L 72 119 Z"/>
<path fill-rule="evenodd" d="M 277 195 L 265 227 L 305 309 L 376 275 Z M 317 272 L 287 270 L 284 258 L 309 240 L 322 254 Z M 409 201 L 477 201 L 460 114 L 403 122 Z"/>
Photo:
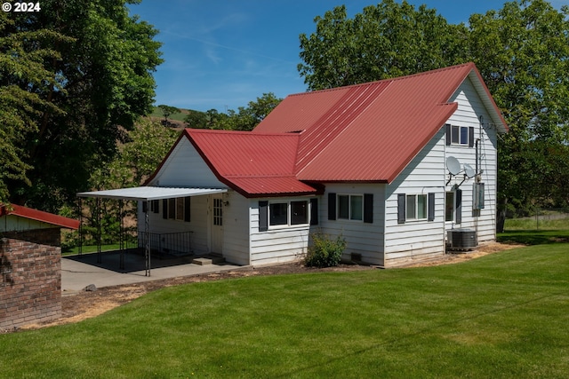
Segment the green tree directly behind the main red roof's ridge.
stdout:
<path fill-rule="evenodd" d="M 436 10 L 415 10 L 405 0 L 367 6 L 353 19 L 337 6 L 315 23 L 315 33 L 300 36 L 298 70 L 310 91 L 415 74 L 465 57 L 464 25 L 449 25 Z"/>

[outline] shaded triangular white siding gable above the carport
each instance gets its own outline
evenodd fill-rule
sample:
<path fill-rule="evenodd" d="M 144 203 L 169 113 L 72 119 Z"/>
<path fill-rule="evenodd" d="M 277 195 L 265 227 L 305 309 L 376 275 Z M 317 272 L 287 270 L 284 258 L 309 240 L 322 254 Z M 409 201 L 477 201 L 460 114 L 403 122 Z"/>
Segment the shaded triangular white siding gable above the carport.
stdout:
<path fill-rule="evenodd" d="M 188 138 L 180 139 L 149 186 L 227 188 L 213 175 Z"/>

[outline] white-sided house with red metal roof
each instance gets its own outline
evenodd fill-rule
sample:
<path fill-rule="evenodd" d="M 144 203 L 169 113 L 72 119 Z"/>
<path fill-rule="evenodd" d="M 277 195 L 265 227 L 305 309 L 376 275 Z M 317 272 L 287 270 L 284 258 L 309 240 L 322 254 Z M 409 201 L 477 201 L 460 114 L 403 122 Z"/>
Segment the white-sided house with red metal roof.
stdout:
<path fill-rule="evenodd" d="M 314 232 L 383 267 L 441 256 L 449 230 L 495 240 L 507 130 L 472 63 L 291 95 L 251 132 L 184 130 L 146 186 L 188 193 L 139 197 L 140 233 L 239 265 L 298 259 Z"/>

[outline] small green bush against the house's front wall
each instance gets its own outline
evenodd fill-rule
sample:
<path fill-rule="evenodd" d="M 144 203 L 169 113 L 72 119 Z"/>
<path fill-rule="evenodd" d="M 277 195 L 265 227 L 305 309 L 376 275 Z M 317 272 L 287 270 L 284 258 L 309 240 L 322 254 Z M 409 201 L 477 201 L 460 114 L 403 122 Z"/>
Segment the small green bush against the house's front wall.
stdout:
<path fill-rule="evenodd" d="M 335 240 L 322 233 L 312 234 L 312 245 L 304 259 L 308 267 L 332 267 L 338 265 L 346 249 L 346 240 L 339 235 Z"/>

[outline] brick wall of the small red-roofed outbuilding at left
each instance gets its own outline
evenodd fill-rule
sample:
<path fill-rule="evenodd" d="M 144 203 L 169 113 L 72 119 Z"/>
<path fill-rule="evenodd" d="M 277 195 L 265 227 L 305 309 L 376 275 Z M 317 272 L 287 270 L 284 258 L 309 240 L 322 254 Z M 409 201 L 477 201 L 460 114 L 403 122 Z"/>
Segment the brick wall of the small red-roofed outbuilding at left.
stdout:
<path fill-rule="evenodd" d="M 0 330 L 61 316 L 60 229 L 0 234 Z"/>

